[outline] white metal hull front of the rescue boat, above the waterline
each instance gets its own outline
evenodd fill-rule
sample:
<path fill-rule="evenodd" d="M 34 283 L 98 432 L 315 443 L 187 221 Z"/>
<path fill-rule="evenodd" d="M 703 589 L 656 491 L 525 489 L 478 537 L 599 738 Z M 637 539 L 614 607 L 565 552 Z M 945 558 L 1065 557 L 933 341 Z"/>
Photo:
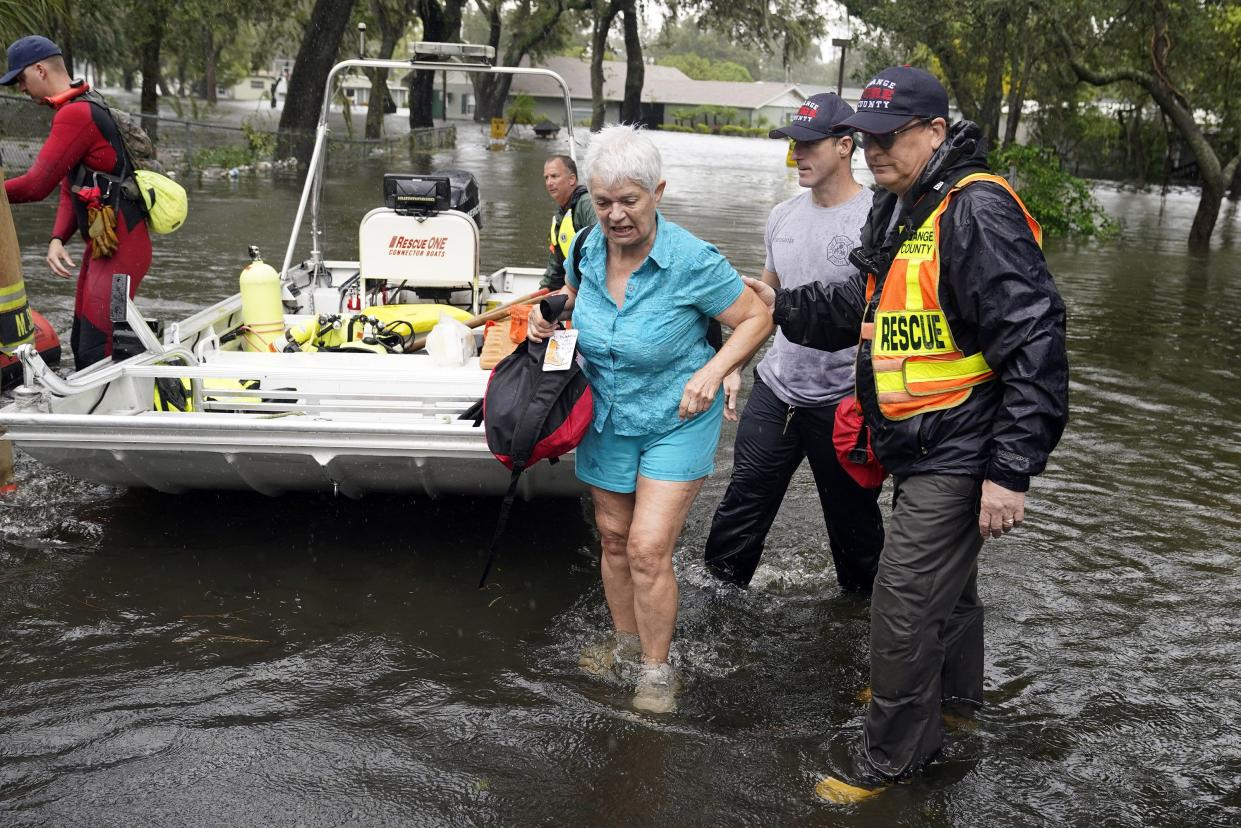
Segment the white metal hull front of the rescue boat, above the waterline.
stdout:
<path fill-rule="evenodd" d="M 5 412 L 6 437 L 77 479 L 180 494 L 194 489 L 414 497 L 503 495 L 509 470 L 482 430 L 211 415 L 47 417 Z M 517 495 L 580 497 L 572 456 L 522 474 Z"/>

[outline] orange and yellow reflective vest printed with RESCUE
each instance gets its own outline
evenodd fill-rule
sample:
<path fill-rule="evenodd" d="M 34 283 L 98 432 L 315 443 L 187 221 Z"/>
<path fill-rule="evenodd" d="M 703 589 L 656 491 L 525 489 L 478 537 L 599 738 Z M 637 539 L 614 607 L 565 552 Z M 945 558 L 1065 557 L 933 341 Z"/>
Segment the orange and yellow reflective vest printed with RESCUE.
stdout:
<path fill-rule="evenodd" d="M 959 406 L 975 385 L 995 379 L 982 353 L 967 355 L 957 346 L 939 307 L 939 218 L 957 192 L 978 181 L 1004 187 L 1025 214 L 1034 240 L 1042 246 L 1042 228 L 1003 178 L 975 173 L 948 191 L 917 232 L 901 245 L 884 281 L 875 322 L 862 325 L 861 338 L 871 340 L 879 410 L 889 420 L 908 420 Z M 870 273 L 867 303 L 874 294 L 875 274 Z"/>

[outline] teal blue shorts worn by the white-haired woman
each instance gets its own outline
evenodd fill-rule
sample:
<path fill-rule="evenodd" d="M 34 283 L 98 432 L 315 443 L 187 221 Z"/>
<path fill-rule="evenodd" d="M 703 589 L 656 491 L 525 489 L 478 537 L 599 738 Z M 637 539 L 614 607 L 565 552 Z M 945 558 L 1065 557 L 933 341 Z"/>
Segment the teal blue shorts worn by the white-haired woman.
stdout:
<path fill-rule="evenodd" d="M 575 456 L 577 479 L 628 494 L 638 488 L 638 475 L 653 480 L 685 482 L 715 470 L 715 447 L 724 423 L 724 392 L 705 412 L 680 421 L 659 434 L 625 437 L 612 430 L 612 417 L 603 431 L 586 430 Z"/>

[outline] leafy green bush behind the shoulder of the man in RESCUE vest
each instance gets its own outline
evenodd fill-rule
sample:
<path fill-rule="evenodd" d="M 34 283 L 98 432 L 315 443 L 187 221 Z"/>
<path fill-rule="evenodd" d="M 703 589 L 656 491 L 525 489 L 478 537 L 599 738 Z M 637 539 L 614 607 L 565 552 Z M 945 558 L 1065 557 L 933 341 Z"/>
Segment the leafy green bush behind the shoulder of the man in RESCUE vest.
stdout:
<path fill-rule="evenodd" d="M 1055 149 L 1013 144 L 992 150 L 988 160 L 997 173 L 1010 173 L 1014 189 L 1047 236 L 1088 238 L 1116 232 L 1090 184 L 1066 171 Z"/>

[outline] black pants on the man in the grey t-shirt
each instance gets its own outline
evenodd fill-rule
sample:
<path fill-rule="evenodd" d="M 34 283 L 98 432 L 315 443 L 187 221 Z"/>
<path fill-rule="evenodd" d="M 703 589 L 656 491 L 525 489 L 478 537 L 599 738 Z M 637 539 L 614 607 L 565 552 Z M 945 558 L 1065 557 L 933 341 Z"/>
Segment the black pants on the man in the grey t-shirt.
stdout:
<path fill-rule="evenodd" d="M 840 468 L 831 444 L 835 416 L 834 405 L 786 405 L 756 374 L 737 425 L 732 480 L 706 540 L 706 564 L 719 578 L 750 583 L 788 483 L 807 458 L 823 504 L 836 581 L 845 590 L 870 592 L 884 547 L 880 490 L 861 488 Z"/>

